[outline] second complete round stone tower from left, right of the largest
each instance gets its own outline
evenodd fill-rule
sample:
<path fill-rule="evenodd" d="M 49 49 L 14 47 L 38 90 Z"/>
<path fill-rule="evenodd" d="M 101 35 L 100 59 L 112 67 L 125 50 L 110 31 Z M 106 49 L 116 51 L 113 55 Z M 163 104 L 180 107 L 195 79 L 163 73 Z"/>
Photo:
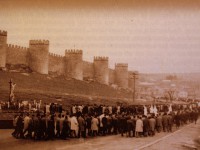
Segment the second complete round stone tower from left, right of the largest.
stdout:
<path fill-rule="evenodd" d="M 83 80 L 83 51 L 65 50 L 66 68 L 68 77 Z"/>

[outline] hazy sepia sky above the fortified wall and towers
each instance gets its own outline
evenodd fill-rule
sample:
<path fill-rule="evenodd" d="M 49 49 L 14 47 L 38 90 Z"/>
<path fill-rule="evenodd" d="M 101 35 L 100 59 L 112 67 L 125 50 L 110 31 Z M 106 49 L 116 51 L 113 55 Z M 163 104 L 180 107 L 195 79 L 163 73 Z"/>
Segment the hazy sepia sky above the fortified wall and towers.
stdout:
<path fill-rule="evenodd" d="M 8 43 L 50 41 L 64 56 L 108 56 L 141 73 L 200 72 L 199 0 L 0 0 L 0 30 Z"/>

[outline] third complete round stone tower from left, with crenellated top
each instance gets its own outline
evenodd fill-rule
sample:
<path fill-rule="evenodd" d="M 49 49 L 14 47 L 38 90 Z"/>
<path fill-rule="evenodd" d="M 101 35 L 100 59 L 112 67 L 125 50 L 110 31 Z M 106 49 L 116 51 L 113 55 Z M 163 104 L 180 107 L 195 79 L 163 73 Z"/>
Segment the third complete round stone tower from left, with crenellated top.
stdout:
<path fill-rule="evenodd" d="M 108 57 L 94 57 L 94 79 L 99 83 L 108 85 Z"/>

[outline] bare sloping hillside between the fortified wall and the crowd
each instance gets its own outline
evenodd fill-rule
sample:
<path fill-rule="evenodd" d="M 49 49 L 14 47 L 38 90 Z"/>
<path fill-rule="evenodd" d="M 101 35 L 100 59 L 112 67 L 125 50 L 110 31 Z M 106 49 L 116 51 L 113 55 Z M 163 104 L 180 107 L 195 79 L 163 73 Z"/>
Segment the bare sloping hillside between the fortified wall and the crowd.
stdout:
<path fill-rule="evenodd" d="M 37 73 L 20 73 L 0 71 L 0 101 L 9 97 L 10 78 L 16 83 L 15 100 L 34 99 L 43 102 L 59 101 L 64 105 L 81 104 L 113 104 L 127 102 L 124 99 L 132 97 L 131 92 L 124 89 L 113 89 L 110 86 L 95 83 L 65 79 L 64 76 L 53 77 Z"/>

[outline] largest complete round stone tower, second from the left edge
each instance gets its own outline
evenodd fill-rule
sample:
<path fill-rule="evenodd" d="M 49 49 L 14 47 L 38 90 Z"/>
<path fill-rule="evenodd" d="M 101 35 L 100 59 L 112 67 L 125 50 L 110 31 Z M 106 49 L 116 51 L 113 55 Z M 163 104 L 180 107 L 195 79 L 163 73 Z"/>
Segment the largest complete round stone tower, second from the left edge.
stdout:
<path fill-rule="evenodd" d="M 49 41 L 48 40 L 30 40 L 29 42 L 29 66 L 41 74 L 48 74 L 49 63 Z"/>

